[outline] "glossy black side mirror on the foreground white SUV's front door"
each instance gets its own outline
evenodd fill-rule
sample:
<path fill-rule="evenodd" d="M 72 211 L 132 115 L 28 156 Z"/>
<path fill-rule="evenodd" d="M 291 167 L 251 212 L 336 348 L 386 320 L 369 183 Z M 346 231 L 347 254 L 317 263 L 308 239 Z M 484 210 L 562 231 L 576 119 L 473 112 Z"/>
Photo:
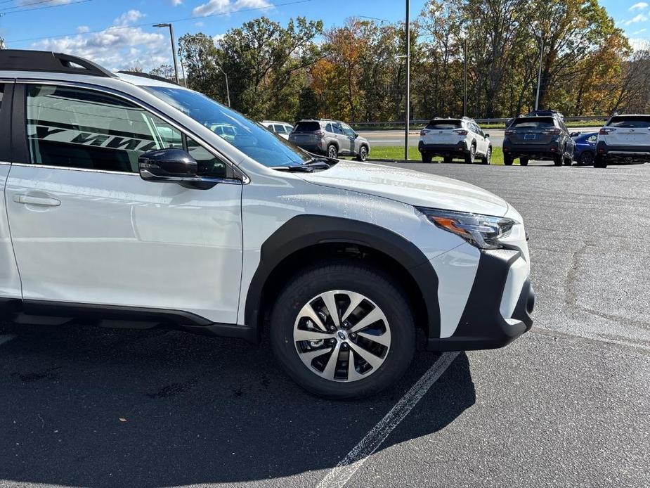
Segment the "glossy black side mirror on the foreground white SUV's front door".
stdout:
<path fill-rule="evenodd" d="M 207 190 L 216 185 L 197 175 L 198 163 L 182 149 L 160 149 L 138 158 L 140 177 L 145 181 L 178 183 L 186 188 Z"/>

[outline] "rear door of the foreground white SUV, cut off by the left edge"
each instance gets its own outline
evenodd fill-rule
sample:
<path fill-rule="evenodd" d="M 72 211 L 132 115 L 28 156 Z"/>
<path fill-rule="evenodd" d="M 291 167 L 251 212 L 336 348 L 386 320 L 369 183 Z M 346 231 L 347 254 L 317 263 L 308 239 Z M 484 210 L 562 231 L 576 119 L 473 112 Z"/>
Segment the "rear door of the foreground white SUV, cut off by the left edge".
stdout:
<path fill-rule="evenodd" d="M 15 264 L 4 191 L 11 169 L 11 101 L 13 80 L 0 80 L 0 301 L 20 300 L 22 290 Z"/>

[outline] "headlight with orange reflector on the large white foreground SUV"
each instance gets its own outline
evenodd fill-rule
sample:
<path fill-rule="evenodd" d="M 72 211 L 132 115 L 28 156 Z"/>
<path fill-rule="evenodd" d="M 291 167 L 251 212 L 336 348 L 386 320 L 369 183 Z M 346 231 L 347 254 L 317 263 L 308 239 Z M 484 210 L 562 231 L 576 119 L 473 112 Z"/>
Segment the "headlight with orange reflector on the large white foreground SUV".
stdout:
<path fill-rule="evenodd" d="M 432 224 L 467 240 L 479 249 L 500 249 L 500 239 L 507 236 L 516 222 L 492 215 L 415 207 Z"/>

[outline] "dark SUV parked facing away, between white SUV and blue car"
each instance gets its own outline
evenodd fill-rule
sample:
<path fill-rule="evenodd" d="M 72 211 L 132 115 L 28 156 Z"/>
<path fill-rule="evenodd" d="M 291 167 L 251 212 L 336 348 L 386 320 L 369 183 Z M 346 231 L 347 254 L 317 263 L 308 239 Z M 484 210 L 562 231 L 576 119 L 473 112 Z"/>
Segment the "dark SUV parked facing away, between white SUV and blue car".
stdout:
<path fill-rule="evenodd" d="M 558 115 L 517 117 L 505 131 L 503 162 L 521 166 L 529 160 L 553 161 L 556 166 L 571 166 L 576 143 Z"/>

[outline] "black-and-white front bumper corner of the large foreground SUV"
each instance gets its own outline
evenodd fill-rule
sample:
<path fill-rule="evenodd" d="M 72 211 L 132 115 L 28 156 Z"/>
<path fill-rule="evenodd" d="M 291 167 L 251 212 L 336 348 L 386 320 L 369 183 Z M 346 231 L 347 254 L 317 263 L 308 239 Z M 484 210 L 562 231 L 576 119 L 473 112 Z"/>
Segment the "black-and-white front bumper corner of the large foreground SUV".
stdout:
<path fill-rule="evenodd" d="M 481 251 L 474 284 L 457 328 L 448 338 L 429 338 L 427 349 L 495 349 L 530 330 L 535 292 L 526 258 L 520 250 Z"/>

